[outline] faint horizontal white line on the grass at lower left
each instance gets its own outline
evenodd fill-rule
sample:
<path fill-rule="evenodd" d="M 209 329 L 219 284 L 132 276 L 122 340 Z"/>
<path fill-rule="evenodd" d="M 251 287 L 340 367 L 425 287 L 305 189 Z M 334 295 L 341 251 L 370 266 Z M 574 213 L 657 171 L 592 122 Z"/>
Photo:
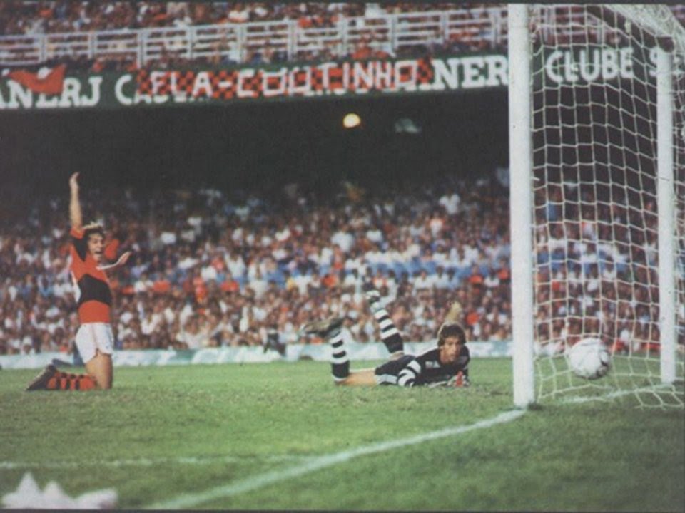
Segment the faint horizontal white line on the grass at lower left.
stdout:
<path fill-rule="evenodd" d="M 0 470 L 31 469 L 73 469 L 81 467 L 153 467 L 154 465 L 211 465 L 213 463 L 233 463 L 241 461 L 262 460 L 265 462 L 303 462 L 310 456 L 220 456 L 220 457 L 176 457 L 176 458 L 135 458 L 132 460 L 64 460 L 52 462 L 11 462 L 0 461 Z"/>

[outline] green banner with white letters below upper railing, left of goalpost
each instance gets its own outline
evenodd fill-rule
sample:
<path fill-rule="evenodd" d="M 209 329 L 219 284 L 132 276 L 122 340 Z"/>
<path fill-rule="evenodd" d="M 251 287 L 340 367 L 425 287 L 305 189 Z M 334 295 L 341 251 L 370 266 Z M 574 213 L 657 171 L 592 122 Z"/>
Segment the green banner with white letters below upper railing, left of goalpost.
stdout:
<path fill-rule="evenodd" d="M 481 90 L 505 88 L 507 73 L 507 56 L 502 53 L 101 73 L 57 66 L 35 72 L 4 71 L 0 110 L 168 107 Z"/>

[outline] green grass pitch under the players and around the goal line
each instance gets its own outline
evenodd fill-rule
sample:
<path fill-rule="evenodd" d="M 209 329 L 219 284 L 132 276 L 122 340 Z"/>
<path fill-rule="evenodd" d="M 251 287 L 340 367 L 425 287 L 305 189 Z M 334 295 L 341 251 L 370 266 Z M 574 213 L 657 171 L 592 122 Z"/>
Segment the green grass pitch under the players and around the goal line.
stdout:
<path fill-rule="evenodd" d="M 117 368 L 90 393 L 0 371 L 0 496 L 30 471 L 72 497 L 116 489 L 123 509 L 685 510 L 681 409 L 545 404 L 293 473 L 511 410 L 511 361 L 471 367 L 468 389 L 335 387 L 312 361 Z"/>

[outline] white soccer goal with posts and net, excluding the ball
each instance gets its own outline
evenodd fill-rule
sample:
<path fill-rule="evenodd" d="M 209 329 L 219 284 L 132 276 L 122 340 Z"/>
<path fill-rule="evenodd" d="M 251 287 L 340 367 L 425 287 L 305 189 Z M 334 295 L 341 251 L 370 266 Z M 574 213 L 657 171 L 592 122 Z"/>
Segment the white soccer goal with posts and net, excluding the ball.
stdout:
<path fill-rule="evenodd" d="M 685 28 L 659 5 L 509 5 L 514 403 L 684 406 Z M 596 338 L 610 370 L 581 378 Z"/>

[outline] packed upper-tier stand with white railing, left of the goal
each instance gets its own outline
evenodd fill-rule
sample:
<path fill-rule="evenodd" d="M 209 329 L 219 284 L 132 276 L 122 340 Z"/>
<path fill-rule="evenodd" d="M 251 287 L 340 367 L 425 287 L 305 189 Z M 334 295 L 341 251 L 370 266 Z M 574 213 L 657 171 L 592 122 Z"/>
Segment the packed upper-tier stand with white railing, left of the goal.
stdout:
<path fill-rule="evenodd" d="M 0 64 L 124 69 L 502 48 L 503 5 L 6 2 Z"/>

